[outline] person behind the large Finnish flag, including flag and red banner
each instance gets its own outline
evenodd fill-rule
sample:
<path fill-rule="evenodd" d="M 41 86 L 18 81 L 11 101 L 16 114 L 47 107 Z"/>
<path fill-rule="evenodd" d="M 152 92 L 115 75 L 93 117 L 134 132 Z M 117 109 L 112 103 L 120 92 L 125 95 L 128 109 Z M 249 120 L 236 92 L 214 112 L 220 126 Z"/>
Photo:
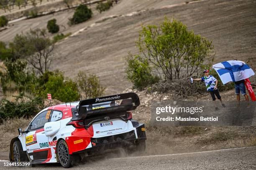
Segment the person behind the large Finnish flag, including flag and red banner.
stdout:
<path fill-rule="evenodd" d="M 256 101 L 253 89 L 251 87 L 251 82 L 249 77 L 255 75 L 253 70 L 243 61 L 229 60 L 220 62 L 212 66 L 218 73 L 220 80 L 225 85 L 227 82 L 235 82 L 235 93 L 238 101 L 238 107 L 240 106 L 240 92 L 244 95 L 246 101 L 248 102 L 248 107 L 250 107 L 249 98 L 246 94 L 246 89 L 251 97 L 252 101 Z"/>

